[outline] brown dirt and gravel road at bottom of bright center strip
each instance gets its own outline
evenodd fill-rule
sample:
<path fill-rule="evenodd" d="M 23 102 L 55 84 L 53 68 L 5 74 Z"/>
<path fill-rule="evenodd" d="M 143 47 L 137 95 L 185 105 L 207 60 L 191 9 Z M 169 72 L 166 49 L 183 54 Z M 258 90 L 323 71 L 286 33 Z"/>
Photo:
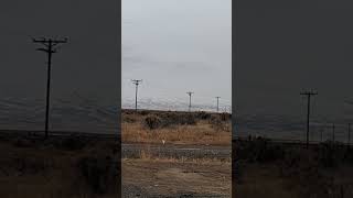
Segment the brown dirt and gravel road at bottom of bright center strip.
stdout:
<path fill-rule="evenodd" d="M 121 148 L 122 197 L 231 197 L 231 146 L 122 144 Z M 146 150 L 158 158 L 139 158 Z"/>

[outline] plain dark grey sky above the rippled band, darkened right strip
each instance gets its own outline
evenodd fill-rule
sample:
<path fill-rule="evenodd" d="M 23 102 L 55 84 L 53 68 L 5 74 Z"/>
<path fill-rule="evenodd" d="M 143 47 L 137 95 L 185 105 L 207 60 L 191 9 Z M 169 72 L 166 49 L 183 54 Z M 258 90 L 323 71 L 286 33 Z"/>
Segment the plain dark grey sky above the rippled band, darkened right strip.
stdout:
<path fill-rule="evenodd" d="M 353 119 L 351 1 L 238 0 L 237 15 L 239 113 L 304 116 L 313 89 L 313 118 Z"/>

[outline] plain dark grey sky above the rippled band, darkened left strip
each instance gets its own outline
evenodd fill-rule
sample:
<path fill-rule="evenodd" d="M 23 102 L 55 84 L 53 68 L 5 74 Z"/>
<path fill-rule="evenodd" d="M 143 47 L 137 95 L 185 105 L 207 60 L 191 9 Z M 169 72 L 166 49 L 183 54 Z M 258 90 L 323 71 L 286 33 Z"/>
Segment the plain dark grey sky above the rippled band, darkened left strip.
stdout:
<path fill-rule="evenodd" d="M 45 96 L 46 56 L 31 37 L 68 37 L 53 55 L 53 97 L 118 91 L 118 3 L 93 0 L 0 2 L 0 96 Z"/>

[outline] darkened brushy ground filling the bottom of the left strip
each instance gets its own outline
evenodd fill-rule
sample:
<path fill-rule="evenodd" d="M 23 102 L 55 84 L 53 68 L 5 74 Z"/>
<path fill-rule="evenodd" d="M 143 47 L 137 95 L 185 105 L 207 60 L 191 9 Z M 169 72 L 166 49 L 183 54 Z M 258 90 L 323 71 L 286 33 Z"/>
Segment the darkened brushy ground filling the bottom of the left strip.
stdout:
<path fill-rule="evenodd" d="M 114 140 L 0 140 L 1 198 L 113 198 L 119 160 Z"/>

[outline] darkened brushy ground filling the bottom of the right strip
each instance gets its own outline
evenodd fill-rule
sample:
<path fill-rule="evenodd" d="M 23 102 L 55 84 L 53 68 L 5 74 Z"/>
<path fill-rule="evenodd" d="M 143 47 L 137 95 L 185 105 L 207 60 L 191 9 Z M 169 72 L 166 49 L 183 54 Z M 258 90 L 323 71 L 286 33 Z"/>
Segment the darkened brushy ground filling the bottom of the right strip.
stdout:
<path fill-rule="evenodd" d="M 307 150 L 258 138 L 236 141 L 234 152 L 236 197 L 353 197 L 353 152 L 346 145 Z"/>

